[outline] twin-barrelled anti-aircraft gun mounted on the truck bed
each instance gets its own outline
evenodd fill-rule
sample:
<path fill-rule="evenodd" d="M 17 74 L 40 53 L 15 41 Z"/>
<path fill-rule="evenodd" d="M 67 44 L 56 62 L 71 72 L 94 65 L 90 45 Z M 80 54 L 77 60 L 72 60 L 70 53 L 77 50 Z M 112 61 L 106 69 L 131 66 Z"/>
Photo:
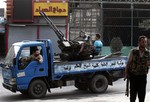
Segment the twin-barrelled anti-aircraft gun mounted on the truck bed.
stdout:
<path fill-rule="evenodd" d="M 93 55 L 93 50 L 85 49 L 83 54 L 78 54 L 81 49 L 81 44 L 78 41 L 69 41 L 64 37 L 64 34 L 57 28 L 57 26 L 52 22 L 52 20 L 44 13 L 40 12 L 40 15 L 44 17 L 49 26 L 53 29 L 59 40 L 57 41 L 58 47 L 61 50 L 60 58 L 61 60 L 84 60 L 92 58 L 90 55 Z"/>

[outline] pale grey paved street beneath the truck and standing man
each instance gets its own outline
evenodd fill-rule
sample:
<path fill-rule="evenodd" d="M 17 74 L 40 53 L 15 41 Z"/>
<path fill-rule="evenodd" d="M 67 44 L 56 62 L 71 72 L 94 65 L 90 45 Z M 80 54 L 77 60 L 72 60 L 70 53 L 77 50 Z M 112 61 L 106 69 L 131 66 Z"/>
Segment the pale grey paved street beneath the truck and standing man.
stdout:
<path fill-rule="evenodd" d="M 2 83 L 0 74 L 0 83 Z M 125 82 L 120 79 L 109 86 L 103 94 L 93 94 L 91 92 L 79 91 L 73 86 L 63 87 L 62 89 L 52 89 L 52 93 L 42 99 L 30 99 L 19 92 L 12 93 L 2 87 L 0 84 L 0 102 L 129 102 L 128 97 L 124 95 Z M 138 102 L 138 101 L 136 101 Z M 150 102 L 150 74 L 148 75 L 146 101 Z"/>

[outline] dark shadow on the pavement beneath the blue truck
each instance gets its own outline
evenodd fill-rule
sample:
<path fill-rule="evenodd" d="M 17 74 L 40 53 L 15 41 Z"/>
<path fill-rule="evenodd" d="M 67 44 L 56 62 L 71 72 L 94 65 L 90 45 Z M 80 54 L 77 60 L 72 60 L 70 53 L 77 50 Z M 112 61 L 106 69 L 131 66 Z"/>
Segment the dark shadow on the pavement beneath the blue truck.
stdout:
<path fill-rule="evenodd" d="M 61 90 L 61 89 L 59 89 Z M 46 94 L 46 96 L 44 98 L 41 98 L 41 99 L 31 99 L 30 97 L 26 96 L 26 95 L 22 95 L 20 93 L 14 93 L 14 94 L 9 94 L 9 95 L 6 95 L 6 96 L 3 96 L 3 97 L 0 97 L 0 102 L 16 102 L 16 101 L 25 101 L 25 102 L 31 102 L 32 100 L 34 100 L 34 102 L 37 100 L 37 101 L 40 101 L 40 100 L 43 100 L 43 101 L 46 101 L 46 100 L 67 100 L 67 101 L 71 101 L 71 100 L 78 100 L 78 99 L 85 99 L 85 98 L 92 98 L 92 97 L 99 97 L 101 95 L 104 95 L 104 94 L 113 94 L 114 91 L 106 91 L 105 93 L 101 93 L 101 94 L 94 94 L 94 93 L 91 93 L 90 91 L 80 91 L 78 89 L 74 89 L 74 90 L 71 90 L 71 91 L 67 91 L 67 92 L 52 92 L 52 93 L 48 93 Z M 117 94 L 120 94 L 120 93 L 117 93 Z"/>

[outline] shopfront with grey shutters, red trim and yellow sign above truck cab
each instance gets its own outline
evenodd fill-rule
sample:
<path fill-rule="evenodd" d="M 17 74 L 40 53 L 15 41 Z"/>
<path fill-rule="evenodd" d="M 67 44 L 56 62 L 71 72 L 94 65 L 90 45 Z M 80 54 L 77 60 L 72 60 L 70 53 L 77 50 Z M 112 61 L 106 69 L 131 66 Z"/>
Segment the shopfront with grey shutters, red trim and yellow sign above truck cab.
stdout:
<path fill-rule="evenodd" d="M 7 0 L 6 52 L 14 42 L 51 39 L 55 53 L 58 37 L 39 12 L 43 11 L 68 36 L 68 2 L 62 0 Z"/>

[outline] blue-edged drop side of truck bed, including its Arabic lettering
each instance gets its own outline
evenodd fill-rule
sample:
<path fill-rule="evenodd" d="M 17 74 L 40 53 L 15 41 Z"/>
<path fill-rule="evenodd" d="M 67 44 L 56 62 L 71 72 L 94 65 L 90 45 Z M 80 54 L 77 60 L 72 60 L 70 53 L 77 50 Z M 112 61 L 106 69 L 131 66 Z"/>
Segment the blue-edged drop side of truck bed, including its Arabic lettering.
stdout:
<path fill-rule="evenodd" d="M 120 56 L 117 58 L 94 58 L 91 60 L 71 61 L 71 62 L 54 62 L 54 75 L 78 74 L 95 71 L 111 71 L 124 69 L 127 57 Z"/>

